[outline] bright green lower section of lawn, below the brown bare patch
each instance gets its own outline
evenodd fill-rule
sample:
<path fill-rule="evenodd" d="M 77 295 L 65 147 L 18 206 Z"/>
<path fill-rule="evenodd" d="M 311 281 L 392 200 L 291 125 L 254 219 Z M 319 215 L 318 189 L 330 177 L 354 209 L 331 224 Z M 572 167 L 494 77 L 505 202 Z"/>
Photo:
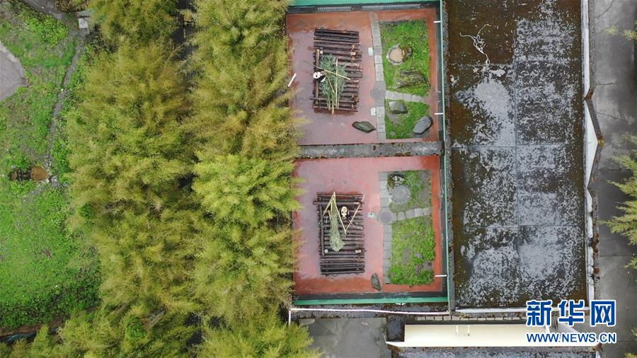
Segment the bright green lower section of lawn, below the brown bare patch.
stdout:
<path fill-rule="evenodd" d="M 0 326 L 42 323 L 98 300 L 93 254 L 64 230 L 64 193 L 0 178 Z"/>

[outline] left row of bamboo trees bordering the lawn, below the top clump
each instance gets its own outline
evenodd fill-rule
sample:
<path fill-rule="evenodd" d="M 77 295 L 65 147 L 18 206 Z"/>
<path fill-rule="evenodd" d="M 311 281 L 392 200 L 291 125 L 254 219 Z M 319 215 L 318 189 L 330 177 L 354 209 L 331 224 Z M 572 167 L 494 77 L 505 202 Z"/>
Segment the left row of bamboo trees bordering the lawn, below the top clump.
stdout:
<path fill-rule="evenodd" d="M 193 153 L 176 67 L 163 45 L 123 43 L 96 59 L 69 116 L 72 223 L 96 246 L 103 284 L 98 311 L 63 328 L 64 349 L 173 355 L 192 334 L 195 230 L 181 180 Z"/>

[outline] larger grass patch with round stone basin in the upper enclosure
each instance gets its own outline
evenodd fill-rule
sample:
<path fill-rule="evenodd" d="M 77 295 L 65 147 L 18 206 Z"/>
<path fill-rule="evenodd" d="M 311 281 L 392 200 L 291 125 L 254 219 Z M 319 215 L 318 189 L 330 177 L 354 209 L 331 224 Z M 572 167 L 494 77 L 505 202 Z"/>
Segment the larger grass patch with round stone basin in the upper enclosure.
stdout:
<path fill-rule="evenodd" d="M 424 20 L 399 21 L 381 23 L 381 42 L 383 45 L 383 74 L 387 88 L 404 93 L 412 93 L 418 96 L 426 96 L 429 93 L 429 40 L 427 38 L 427 24 Z M 386 55 L 389 49 L 400 44 L 410 46 L 411 57 L 396 66 L 389 62 Z M 414 86 L 396 88 L 396 79 L 401 70 L 415 70 L 425 76 L 425 82 Z"/>

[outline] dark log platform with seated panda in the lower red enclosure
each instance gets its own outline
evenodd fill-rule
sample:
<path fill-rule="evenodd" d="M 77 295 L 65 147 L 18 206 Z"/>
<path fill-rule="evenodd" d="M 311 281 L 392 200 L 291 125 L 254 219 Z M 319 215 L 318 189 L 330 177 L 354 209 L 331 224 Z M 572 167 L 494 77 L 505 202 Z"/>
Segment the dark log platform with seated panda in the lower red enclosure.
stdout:
<path fill-rule="evenodd" d="M 339 214 L 342 207 L 348 208 L 348 214 L 341 219 L 343 225 L 348 228 L 347 234 L 339 227 L 340 237 L 343 240 L 343 248 L 338 251 L 332 249 L 330 244 L 330 217 L 323 215 L 331 193 L 319 193 L 314 204 L 319 212 L 319 255 L 321 256 L 321 275 L 344 275 L 365 272 L 365 232 L 363 226 L 362 210 L 356 209 L 362 206 L 360 194 L 337 194 L 336 206 Z"/>

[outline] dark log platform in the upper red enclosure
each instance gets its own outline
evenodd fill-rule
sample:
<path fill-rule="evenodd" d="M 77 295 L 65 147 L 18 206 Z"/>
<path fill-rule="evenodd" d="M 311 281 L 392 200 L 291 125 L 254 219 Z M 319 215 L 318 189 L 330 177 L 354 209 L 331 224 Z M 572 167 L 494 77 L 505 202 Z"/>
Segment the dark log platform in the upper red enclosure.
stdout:
<path fill-rule="evenodd" d="M 345 66 L 345 91 L 338 100 L 336 110 L 356 112 L 358 110 L 360 79 L 362 78 L 362 52 L 358 31 L 314 30 L 314 64 L 320 66 L 321 57 L 331 54 L 338 59 L 338 64 Z M 318 71 L 318 69 L 316 69 Z M 328 110 L 327 101 L 319 81 L 314 81 L 314 93 L 311 98 L 317 110 Z"/>

